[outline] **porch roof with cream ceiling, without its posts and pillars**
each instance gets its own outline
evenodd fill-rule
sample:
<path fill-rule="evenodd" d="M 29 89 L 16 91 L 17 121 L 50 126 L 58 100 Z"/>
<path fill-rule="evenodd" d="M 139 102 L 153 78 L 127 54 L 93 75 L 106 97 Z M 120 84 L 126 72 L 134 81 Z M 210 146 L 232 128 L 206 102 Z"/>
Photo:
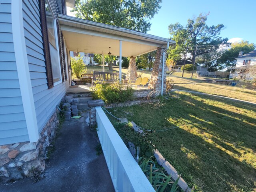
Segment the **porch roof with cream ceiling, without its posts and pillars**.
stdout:
<path fill-rule="evenodd" d="M 70 51 L 119 55 L 122 40 L 122 56 L 138 56 L 167 47 L 175 41 L 137 32 L 134 30 L 58 14 L 60 28 Z"/>

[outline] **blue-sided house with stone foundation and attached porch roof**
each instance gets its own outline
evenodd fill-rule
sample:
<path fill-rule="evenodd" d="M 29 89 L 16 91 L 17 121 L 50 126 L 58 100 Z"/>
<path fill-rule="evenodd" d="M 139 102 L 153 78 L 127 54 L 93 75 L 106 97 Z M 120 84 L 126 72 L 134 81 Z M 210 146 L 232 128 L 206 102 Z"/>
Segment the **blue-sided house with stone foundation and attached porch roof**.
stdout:
<path fill-rule="evenodd" d="M 56 106 L 71 83 L 70 51 L 104 58 L 111 47 L 112 55 L 131 58 L 129 75 L 136 74 L 136 56 L 157 50 L 149 87 L 165 91 L 162 60 L 173 40 L 67 16 L 74 0 L 0 2 L 0 180 L 44 170 L 58 126 Z"/>

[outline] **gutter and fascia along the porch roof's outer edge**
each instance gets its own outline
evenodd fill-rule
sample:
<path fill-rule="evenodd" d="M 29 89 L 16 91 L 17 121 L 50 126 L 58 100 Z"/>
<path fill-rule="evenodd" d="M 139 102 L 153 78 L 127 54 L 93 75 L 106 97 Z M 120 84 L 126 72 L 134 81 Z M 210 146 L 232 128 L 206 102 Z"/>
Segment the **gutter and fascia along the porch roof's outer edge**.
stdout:
<path fill-rule="evenodd" d="M 121 27 L 118 27 L 118 26 L 112 26 L 112 25 L 108 25 L 108 24 L 93 22 L 93 21 L 84 20 L 84 19 L 81 19 L 81 18 L 76 18 L 76 17 L 67 16 L 67 15 L 63 15 L 63 14 L 58 14 L 58 18 L 59 18 L 59 20 L 63 20 L 63 21 L 66 21 L 66 22 L 72 22 L 72 23 L 81 24 L 81 25 L 89 25 L 89 26 L 93 26 L 93 27 L 97 27 L 97 28 L 114 30 L 114 31 L 118 31 L 118 32 L 124 32 L 124 33 L 127 33 L 127 34 L 137 35 L 137 36 L 140 36 L 140 37 L 148 39 L 148 40 L 150 40 L 150 39 L 158 40 L 158 41 L 164 42 L 166 44 L 167 44 L 167 42 L 169 42 L 170 44 L 176 44 L 176 42 L 174 40 L 170 40 L 170 39 L 166 39 L 166 38 L 162 38 L 162 37 L 158 37 L 158 36 L 138 32 L 138 31 L 135 31 L 135 30 L 121 28 Z"/>

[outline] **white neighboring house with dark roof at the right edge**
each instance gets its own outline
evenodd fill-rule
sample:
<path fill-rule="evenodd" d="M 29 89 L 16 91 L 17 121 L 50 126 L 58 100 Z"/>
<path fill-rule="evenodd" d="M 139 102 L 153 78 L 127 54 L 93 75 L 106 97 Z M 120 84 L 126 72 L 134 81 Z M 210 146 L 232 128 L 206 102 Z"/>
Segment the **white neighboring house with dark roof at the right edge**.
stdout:
<path fill-rule="evenodd" d="M 253 50 L 247 54 L 243 55 L 240 51 L 238 58 L 236 58 L 236 66 L 230 68 L 230 78 L 244 78 L 246 80 L 251 80 L 252 77 L 248 73 L 248 68 L 256 65 L 256 50 Z"/>

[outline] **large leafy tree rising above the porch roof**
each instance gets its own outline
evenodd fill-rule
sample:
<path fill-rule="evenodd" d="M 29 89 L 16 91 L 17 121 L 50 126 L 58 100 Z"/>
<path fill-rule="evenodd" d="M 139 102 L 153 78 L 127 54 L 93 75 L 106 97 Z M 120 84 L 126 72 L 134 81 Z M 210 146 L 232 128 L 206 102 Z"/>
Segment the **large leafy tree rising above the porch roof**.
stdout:
<path fill-rule="evenodd" d="M 76 17 L 140 32 L 150 29 L 150 19 L 162 0 L 76 0 Z"/>

